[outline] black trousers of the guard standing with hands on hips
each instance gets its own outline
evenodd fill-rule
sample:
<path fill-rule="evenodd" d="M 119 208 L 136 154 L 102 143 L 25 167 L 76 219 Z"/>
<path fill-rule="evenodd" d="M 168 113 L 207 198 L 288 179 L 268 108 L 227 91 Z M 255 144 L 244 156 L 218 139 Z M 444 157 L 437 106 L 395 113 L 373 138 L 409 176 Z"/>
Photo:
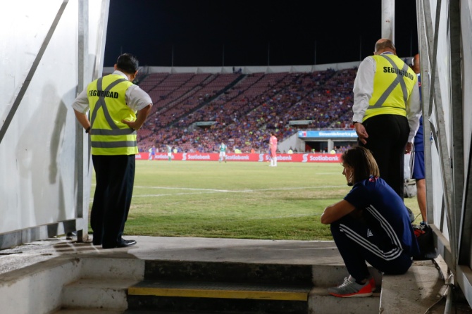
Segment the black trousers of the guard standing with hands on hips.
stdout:
<path fill-rule="evenodd" d="M 96 245 L 115 247 L 123 241 L 135 182 L 135 160 L 135 155 L 92 155 L 97 187 L 90 225 Z"/>

